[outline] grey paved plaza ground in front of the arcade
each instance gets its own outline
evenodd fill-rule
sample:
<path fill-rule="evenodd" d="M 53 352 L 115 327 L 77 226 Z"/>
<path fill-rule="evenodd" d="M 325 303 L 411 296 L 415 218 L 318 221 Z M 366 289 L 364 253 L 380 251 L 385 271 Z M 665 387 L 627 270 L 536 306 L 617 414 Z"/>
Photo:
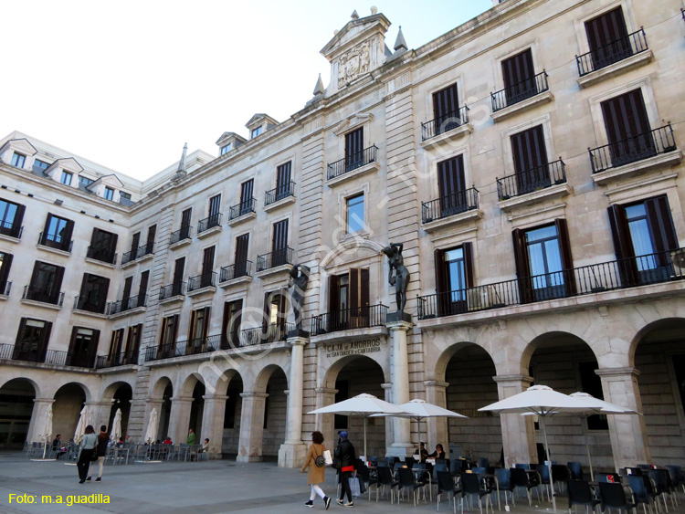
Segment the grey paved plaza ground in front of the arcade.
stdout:
<path fill-rule="evenodd" d="M 97 466 L 96 466 L 97 468 Z M 97 475 L 97 471 L 96 471 Z M 324 491 L 335 494 L 335 475 L 326 473 Z M 61 495 L 92 495 L 101 493 L 110 497 L 109 504 L 90 505 L 88 507 L 66 504 L 41 504 L 43 495 L 56 498 Z M 35 495 L 34 504 L 8 503 L 10 494 Z M 237 464 L 233 460 L 215 460 L 199 463 L 160 463 L 138 464 L 129 466 L 107 466 L 100 484 L 79 484 L 75 466 L 63 462 L 32 462 L 20 453 L 0 453 L 0 512 L 309 512 L 304 506 L 309 497 L 307 476 L 300 474 L 299 469 L 283 469 L 275 462 L 254 464 Z M 369 502 L 367 496 L 358 498 L 352 511 L 390 512 L 396 510 L 412 512 L 435 512 L 436 502 L 421 501 L 416 509 L 411 498 L 399 506 L 391 505 L 389 500 L 381 499 L 378 503 Z M 374 489 L 372 489 L 374 498 Z M 669 507 L 670 513 L 685 514 L 685 498 L 680 495 L 678 509 Z M 536 507 L 529 508 L 524 498 L 517 502 L 512 512 L 531 514 L 532 512 L 552 512 L 546 502 L 533 502 Z M 320 499 L 315 501 L 316 509 L 322 510 Z M 558 499 L 560 512 L 567 512 L 566 498 Z M 342 511 L 334 502 L 331 511 Z M 448 505 L 441 504 L 441 511 L 448 512 Z M 495 502 L 497 512 L 497 503 Z M 476 507 L 470 512 L 478 514 Z M 502 512 L 504 512 L 502 505 Z M 578 512 L 584 512 L 579 509 Z"/>

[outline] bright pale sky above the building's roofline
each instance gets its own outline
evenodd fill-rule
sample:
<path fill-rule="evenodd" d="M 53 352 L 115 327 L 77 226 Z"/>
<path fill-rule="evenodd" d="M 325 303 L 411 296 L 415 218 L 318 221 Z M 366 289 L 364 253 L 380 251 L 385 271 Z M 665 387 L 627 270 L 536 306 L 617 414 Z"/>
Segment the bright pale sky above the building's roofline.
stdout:
<path fill-rule="evenodd" d="M 375 2 L 375 4 L 374 4 Z M 278 121 L 311 100 L 330 64 L 319 53 L 353 10 L 376 5 L 409 48 L 491 0 L 33 0 L 5 2 L 0 137 L 22 131 L 143 180 L 189 152 L 248 136 L 255 112 Z"/>

